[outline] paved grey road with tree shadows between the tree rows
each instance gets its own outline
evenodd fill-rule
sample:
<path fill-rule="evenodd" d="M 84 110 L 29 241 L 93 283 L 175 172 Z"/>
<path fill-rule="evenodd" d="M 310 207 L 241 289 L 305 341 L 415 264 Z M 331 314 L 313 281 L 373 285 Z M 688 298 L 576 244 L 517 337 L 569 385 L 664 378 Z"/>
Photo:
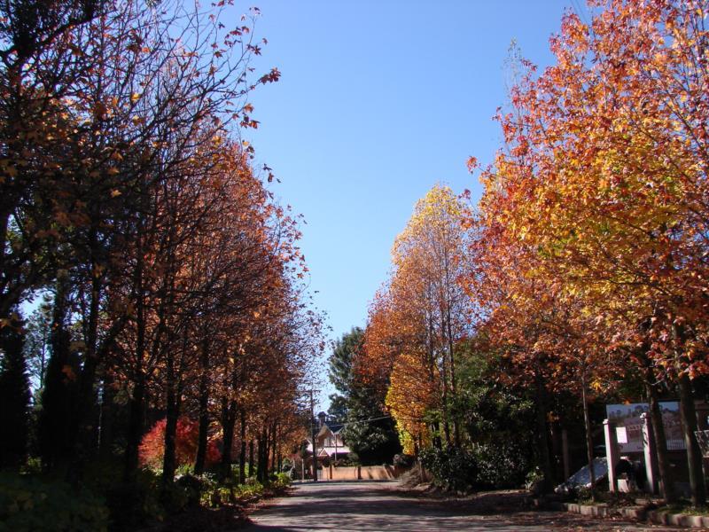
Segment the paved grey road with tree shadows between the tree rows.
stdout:
<path fill-rule="evenodd" d="M 499 511 L 498 511 L 499 512 Z M 623 520 L 590 520 L 566 512 L 480 514 L 466 504 L 450 504 L 401 493 L 397 482 L 319 482 L 297 486 L 291 497 L 270 502 L 251 515 L 246 530 L 676 530 Z"/>

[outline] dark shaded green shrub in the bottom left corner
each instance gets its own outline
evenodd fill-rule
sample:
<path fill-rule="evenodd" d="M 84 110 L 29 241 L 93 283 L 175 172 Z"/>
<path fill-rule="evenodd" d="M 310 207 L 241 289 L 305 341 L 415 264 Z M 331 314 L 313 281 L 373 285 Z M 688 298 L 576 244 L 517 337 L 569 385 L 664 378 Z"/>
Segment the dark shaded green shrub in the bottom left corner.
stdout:
<path fill-rule="evenodd" d="M 66 482 L 0 475 L 2 532 L 101 531 L 108 528 L 108 518 L 103 498 L 86 490 L 75 491 Z"/>

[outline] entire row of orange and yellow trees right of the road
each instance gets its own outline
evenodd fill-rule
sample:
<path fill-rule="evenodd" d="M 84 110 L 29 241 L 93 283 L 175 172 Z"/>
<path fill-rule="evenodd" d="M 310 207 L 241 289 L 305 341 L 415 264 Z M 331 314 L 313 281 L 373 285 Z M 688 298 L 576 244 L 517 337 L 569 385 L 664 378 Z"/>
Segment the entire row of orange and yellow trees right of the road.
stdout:
<path fill-rule="evenodd" d="M 669 501 L 658 399 L 678 398 L 692 502 L 704 505 L 694 400 L 709 372 L 707 5 L 593 0 L 587 14 L 565 14 L 552 66 L 517 62 L 478 206 L 440 186 L 417 205 L 371 306 L 362 379 L 388 387 L 409 449 L 465 446 L 479 435 L 462 437 L 453 407 L 475 394 L 458 370 L 494 361 L 490 382 L 535 405 L 548 481 L 561 403 L 576 397 L 590 460 L 597 400 L 643 398 Z"/>

